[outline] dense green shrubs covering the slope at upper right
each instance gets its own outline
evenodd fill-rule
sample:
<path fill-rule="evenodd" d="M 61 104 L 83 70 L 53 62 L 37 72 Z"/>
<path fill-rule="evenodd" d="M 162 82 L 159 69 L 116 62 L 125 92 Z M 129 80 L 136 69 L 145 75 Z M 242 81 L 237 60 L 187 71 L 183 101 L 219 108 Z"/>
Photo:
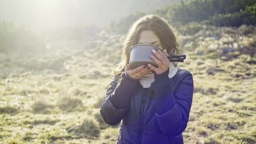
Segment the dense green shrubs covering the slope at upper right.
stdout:
<path fill-rule="evenodd" d="M 202 22 L 210 20 L 217 26 L 256 25 L 256 0 L 189 0 L 156 10 L 169 21 Z"/>

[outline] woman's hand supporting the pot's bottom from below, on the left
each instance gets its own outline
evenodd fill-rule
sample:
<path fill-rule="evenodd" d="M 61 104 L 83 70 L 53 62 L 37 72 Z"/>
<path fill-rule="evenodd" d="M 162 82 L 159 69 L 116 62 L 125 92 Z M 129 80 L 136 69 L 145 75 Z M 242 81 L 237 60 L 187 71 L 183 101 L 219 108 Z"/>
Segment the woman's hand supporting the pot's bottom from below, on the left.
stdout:
<path fill-rule="evenodd" d="M 125 67 L 125 71 L 126 73 L 132 78 L 132 79 L 140 79 L 141 77 L 152 73 L 151 69 L 147 69 L 149 67 L 147 67 L 146 65 L 141 65 L 137 68 L 131 69 L 130 70 L 130 65 L 126 65 Z M 139 74 L 139 75 L 138 75 Z"/>

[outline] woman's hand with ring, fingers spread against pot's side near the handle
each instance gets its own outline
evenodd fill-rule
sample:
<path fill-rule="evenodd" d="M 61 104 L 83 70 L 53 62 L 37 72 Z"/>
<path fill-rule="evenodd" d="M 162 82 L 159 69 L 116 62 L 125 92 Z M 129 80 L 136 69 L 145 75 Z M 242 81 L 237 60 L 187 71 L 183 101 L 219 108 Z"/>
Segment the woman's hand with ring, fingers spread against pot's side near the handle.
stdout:
<path fill-rule="evenodd" d="M 166 49 L 164 49 L 164 53 L 161 50 L 152 50 L 152 52 L 155 56 L 151 55 L 151 59 L 158 65 L 158 68 L 148 64 L 149 68 L 155 71 L 156 74 L 162 74 L 167 71 L 170 65 L 170 61 L 167 56 L 165 56 L 165 54 L 167 54 Z"/>

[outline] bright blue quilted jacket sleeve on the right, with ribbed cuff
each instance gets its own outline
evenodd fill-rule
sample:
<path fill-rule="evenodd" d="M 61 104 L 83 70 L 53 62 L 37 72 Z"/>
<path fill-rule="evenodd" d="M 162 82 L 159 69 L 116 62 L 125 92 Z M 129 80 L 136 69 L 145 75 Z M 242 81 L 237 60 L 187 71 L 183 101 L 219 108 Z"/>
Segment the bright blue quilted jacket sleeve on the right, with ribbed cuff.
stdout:
<path fill-rule="evenodd" d="M 166 136 L 175 136 L 185 131 L 193 97 L 193 77 L 189 71 L 183 73 L 175 91 L 169 71 L 155 74 L 152 83 L 156 95 L 155 117 L 160 131 Z"/>

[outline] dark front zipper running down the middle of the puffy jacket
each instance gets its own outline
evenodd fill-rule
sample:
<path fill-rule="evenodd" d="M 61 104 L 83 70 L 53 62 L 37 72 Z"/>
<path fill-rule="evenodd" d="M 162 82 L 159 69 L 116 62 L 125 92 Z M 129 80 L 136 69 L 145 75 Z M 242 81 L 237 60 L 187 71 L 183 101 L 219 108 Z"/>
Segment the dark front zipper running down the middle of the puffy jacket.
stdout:
<path fill-rule="evenodd" d="M 145 89 L 143 90 L 143 95 L 141 98 L 141 105 L 140 105 L 140 112 L 139 112 L 139 138 L 138 144 L 141 144 L 142 134 L 143 134 L 143 112 L 144 112 L 144 105 L 145 105 Z"/>

